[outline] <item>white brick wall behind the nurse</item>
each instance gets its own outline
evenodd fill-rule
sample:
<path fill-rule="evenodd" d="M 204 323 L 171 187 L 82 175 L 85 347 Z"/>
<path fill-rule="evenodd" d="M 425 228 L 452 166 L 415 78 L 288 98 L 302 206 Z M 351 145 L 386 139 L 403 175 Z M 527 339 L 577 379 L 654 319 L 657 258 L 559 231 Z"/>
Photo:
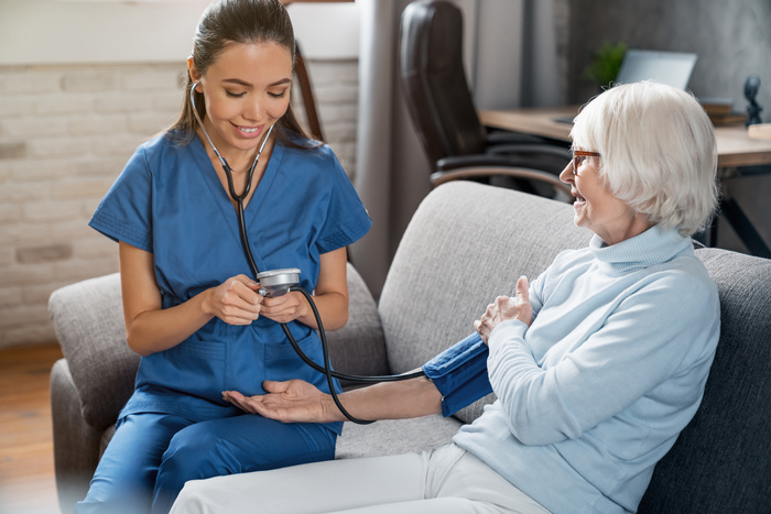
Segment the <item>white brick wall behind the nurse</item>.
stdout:
<path fill-rule="evenodd" d="M 357 62 L 307 66 L 324 134 L 352 175 Z M 0 67 L 0 348 L 54 340 L 51 292 L 118 271 L 117 245 L 87 222 L 137 145 L 176 114 L 184 72 Z M 298 95 L 293 102 L 304 120 Z"/>

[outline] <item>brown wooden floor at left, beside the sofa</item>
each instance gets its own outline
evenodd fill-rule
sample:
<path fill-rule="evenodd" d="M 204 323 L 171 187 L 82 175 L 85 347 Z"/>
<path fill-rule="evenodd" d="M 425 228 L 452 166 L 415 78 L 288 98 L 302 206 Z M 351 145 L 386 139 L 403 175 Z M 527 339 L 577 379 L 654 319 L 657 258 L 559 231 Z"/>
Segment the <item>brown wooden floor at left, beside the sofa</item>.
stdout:
<path fill-rule="evenodd" d="M 0 513 L 57 514 L 48 376 L 58 345 L 0 350 Z"/>

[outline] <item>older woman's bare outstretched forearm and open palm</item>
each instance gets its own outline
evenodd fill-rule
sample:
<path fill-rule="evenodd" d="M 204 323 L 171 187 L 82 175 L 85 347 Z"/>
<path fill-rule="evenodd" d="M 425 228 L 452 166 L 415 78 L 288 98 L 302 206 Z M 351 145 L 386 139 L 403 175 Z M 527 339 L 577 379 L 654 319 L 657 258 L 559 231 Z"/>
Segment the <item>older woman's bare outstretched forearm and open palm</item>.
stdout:
<path fill-rule="evenodd" d="M 241 409 L 283 423 L 347 422 L 332 396 L 302 380 L 265 381 L 268 392 L 243 396 L 226 391 L 222 397 Z M 401 382 L 384 382 L 338 395 L 343 406 L 358 419 L 404 419 L 442 412 L 442 395 L 421 376 Z"/>

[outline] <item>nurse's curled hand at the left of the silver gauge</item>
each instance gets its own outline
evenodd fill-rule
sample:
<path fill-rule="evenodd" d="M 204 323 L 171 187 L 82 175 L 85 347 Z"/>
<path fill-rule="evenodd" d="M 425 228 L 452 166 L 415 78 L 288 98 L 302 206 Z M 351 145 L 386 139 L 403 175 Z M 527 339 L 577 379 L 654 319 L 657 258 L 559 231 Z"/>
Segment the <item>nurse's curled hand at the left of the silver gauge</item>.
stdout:
<path fill-rule="evenodd" d="M 249 325 L 260 317 L 260 284 L 247 275 L 237 275 L 208 289 L 204 309 L 228 325 Z"/>

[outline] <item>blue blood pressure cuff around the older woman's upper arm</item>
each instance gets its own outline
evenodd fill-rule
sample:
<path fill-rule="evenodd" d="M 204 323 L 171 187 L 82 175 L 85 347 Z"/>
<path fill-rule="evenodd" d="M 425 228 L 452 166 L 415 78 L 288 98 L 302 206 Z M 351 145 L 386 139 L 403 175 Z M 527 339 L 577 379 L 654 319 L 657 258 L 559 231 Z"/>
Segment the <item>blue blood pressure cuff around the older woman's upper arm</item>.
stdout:
<path fill-rule="evenodd" d="M 492 392 L 487 376 L 488 354 L 487 345 L 474 332 L 423 364 L 423 372 L 442 393 L 445 417 Z"/>

